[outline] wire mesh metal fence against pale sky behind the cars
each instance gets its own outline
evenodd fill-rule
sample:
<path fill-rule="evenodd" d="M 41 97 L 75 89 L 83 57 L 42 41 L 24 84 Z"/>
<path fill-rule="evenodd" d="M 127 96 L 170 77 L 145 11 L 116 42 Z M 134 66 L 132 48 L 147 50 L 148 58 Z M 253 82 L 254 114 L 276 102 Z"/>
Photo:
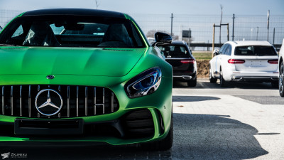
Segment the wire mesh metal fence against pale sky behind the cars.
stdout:
<path fill-rule="evenodd" d="M 21 14 L 23 11 L 0 10 L 0 25 L 3 27 L 11 19 Z M 170 14 L 130 14 L 143 32 L 148 36 L 153 36 L 155 31 L 171 31 Z M 191 30 L 191 43 L 212 43 L 213 24 L 219 25 L 220 15 L 186 15 L 173 14 L 173 34 L 178 40 L 182 40 L 182 30 Z M 232 40 L 233 15 L 223 15 L 222 23 L 229 23 L 229 40 Z M 275 33 L 273 31 L 275 30 Z M 226 26 L 222 26 L 221 42 L 219 42 L 219 28 L 215 30 L 215 43 L 227 41 Z M 234 19 L 234 40 L 258 40 L 280 44 L 284 38 L 284 15 L 271 15 L 269 33 L 267 28 L 266 15 L 235 15 Z M 185 38 L 185 41 L 188 39 Z M 207 48 L 197 48 L 204 50 Z"/>

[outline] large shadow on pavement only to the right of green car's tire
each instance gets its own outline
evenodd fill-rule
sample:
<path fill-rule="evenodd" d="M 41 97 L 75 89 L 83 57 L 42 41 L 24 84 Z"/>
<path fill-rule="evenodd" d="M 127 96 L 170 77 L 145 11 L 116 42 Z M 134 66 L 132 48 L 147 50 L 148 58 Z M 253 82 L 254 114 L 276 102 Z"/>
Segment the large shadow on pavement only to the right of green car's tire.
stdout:
<path fill-rule="evenodd" d="M 252 159 L 268 154 L 258 130 L 229 116 L 174 114 L 173 159 Z"/>

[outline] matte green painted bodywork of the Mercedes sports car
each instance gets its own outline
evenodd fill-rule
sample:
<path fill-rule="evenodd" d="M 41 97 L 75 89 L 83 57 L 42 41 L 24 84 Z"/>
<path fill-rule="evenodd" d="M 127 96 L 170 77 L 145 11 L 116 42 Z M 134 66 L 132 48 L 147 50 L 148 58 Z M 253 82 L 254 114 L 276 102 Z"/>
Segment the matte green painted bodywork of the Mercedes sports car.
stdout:
<path fill-rule="evenodd" d="M 140 30 L 138 29 L 138 31 Z M 140 33 L 143 35 L 141 31 Z M 149 47 L 145 39 L 144 42 L 146 43 L 146 48 L 135 49 L 0 47 L 0 85 L 86 85 L 108 87 L 119 100 L 119 110 L 111 114 L 78 118 L 83 119 L 84 123 L 102 122 L 118 119 L 131 110 L 148 108 L 153 115 L 155 125 L 155 135 L 152 138 L 80 137 L 76 139 L 35 139 L 33 137 L 16 136 L 0 137 L 0 142 L 107 142 L 118 145 L 163 139 L 170 129 L 173 71 L 171 65 L 162 59 L 160 53 L 155 48 Z M 124 91 L 126 82 L 139 73 L 154 67 L 159 67 L 162 70 L 162 80 L 158 90 L 151 95 L 143 97 L 133 99 L 127 97 Z M 46 79 L 47 75 L 54 75 L 55 78 L 48 80 Z M 163 117 L 165 126 L 163 134 L 161 134 L 158 125 L 160 121 L 158 112 Z M 0 122 L 13 123 L 16 118 L 23 117 L 4 116 L 0 112 Z"/>

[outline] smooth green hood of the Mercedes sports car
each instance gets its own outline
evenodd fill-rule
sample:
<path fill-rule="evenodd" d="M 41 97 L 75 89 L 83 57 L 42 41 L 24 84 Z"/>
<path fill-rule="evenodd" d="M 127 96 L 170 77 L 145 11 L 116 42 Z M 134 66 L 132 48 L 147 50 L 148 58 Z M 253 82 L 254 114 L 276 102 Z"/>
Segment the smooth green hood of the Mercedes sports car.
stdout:
<path fill-rule="evenodd" d="M 0 75 L 124 76 L 145 48 L 1 47 Z"/>

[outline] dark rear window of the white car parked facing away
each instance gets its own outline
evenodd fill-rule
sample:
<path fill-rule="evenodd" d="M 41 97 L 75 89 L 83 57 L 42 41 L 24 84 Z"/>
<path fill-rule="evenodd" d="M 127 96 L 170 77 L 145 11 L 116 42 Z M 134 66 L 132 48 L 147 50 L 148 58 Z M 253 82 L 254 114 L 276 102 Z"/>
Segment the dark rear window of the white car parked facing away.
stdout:
<path fill-rule="evenodd" d="M 272 46 L 241 46 L 236 47 L 235 55 L 277 55 Z"/>

